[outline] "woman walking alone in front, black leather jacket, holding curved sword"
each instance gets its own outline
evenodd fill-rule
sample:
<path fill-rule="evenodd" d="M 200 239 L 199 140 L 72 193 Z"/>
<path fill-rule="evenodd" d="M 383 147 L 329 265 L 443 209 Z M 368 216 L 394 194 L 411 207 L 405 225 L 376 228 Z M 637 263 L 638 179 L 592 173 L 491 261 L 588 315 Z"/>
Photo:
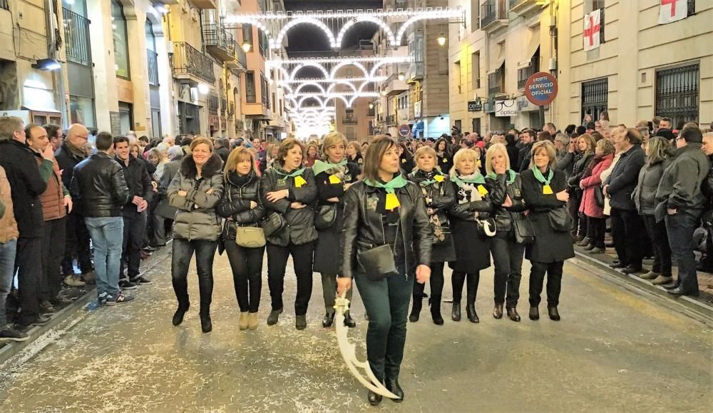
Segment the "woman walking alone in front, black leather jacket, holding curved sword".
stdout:
<path fill-rule="evenodd" d="M 431 269 L 431 225 L 426 203 L 415 183 L 401 175 L 399 146 L 389 136 L 379 136 L 369 146 L 364 159 L 364 180 L 354 183 L 344 197 L 342 232 L 342 274 L 337 293 L 342 295 L 356 279 L 364 302 L 369 327 L 366 330 L 366 357 L 371 371 L 386 388 L 404 399 L 399 386 L 399 369 L 404 358 L 406 315 L 414 290 L 414 277 L 421 284 L 429 280 Z M 367 273 L 366 257 L 384 251 L 384 261 L 393 256 L 396 272 Z M 382 261 L 379 261 L 382 262 Z M 381 396 L 369 391 L 369 403 Z"/>

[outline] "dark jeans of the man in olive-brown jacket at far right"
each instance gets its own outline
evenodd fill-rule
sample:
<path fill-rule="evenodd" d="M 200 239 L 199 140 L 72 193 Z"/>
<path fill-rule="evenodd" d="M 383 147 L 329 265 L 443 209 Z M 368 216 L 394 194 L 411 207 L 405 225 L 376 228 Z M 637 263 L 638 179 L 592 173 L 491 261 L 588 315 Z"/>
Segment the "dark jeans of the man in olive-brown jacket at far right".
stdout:
<path fill-rule="evenodd" d="M 698 292 L 696 257 L 693 254 L 696 249 L 693 231 L 696 229 L 698 214 L 679 210 L 676 215 L 666 215 L 665 221 L 671 252 L 678 265 L 676 283 L 687 293 Z"/>

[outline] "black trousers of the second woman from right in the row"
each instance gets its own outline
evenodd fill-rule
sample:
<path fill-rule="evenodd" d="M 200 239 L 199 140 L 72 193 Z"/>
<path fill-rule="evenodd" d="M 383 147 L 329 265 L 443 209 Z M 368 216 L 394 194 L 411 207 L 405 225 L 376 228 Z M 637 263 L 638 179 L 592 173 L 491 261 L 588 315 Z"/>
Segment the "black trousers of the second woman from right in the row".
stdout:
<path fill-rule="evenodd" d="M 498 233 L 491 238 L 491 254 L 495 263 L 495 303 L 506 302 L 508 308 L 518 306 L 520 279 L 523 277 L 525 245 L 515 242 L 512 232 Z"/>

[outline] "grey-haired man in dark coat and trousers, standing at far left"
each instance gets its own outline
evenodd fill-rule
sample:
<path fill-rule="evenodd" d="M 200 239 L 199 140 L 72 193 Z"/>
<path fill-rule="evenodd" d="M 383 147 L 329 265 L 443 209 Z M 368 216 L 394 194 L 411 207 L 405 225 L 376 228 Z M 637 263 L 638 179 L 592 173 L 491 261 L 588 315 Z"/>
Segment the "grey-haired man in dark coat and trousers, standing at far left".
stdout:
<path fill-rule="evenodd" d="M 42 239 L 44 236 L 40 195 L 47 189 L 52 175 L 52 147 L 42 154 L 26 145 L 20 118 L 0 117 L 0 166 L 5 168 L 19 230 L 15 265 L 18 267 L 21 312 L 18 324 L 29 327 L 43 325 L 48 317 L 40 314 L 42 280 Z M 38 166 L 36 158 L 43 158 Z M 5 309 L 0 309 L 4 311 Z"/>

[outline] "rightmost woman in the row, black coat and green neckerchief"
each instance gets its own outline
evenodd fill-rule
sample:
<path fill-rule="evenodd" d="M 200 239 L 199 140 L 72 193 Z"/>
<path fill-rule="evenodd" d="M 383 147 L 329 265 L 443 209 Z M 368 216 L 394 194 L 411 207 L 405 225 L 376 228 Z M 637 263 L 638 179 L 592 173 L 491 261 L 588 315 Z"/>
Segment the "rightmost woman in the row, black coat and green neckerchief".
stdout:
<path fill-rule="evenodd" d="M 565 260 L 575 256 L 572 246 L 571 218 L 566 205 L 565 173 L 555 169 L 556 150 L 550 141 L 540 141 L 532 148 L 530 169 L 520 174 L 523 200 L 535 228 L 535 242 L 525 247 L 530 260 L 530 320 L 540 319 L 540 295 L 547 275 L 547 309 L 550 320 L 559 321 L 560 290 Z"/>

